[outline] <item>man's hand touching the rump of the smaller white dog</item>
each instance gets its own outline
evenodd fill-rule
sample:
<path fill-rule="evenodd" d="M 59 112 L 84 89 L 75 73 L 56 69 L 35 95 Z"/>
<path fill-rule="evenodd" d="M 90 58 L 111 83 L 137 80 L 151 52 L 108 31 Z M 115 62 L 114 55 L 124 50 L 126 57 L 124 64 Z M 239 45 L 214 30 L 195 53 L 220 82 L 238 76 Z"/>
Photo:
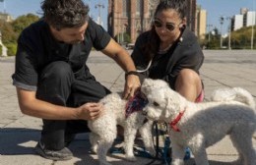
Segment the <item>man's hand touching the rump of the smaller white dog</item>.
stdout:
<path fill-rule="evenodd" d="M 103 112 L 103 105 L 100 103 L 86 103 L 79 107 L 79 118 L 82 120 L 95 120 Z"/>

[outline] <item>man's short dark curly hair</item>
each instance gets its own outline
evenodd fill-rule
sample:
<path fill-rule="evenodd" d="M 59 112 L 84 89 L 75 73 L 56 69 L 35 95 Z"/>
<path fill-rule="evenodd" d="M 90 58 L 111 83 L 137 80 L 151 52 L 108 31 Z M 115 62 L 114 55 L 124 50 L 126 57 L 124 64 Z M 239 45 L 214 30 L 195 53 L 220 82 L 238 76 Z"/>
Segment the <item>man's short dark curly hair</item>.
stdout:
<path fill-rule="evenodd" d="M 44 20 L 58 30 L 82 27 L 89 20 L 89 6 L 82 0 L 44 0 L 41 9 Z"/>

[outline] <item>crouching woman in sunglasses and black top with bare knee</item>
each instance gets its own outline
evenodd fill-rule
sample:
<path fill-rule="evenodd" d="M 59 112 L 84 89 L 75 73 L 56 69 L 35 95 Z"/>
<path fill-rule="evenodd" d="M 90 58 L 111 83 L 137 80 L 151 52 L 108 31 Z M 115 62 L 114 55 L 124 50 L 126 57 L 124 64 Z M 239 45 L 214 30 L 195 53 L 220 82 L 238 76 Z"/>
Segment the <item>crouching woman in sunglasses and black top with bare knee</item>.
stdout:
<path fill-rule="evenodd" d="M 194 32 L 186 27 L 186 11 L 187 0 L 161 0 L 152 28 L 137 38 L 132 58 L 141 81 L 164 80 L 188 100 L 202 101 L 199 69 L 204 55 Z"/>

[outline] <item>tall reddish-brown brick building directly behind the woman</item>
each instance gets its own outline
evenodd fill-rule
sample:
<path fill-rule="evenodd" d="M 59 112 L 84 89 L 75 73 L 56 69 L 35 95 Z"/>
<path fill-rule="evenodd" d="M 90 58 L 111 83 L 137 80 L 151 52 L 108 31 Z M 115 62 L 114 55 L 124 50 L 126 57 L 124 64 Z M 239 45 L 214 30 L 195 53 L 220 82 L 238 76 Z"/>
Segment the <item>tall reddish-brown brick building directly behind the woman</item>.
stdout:
<path fill-rule="evenodd" d="M 187 2 L 187 26 L 196 31 L 196 0 Z M 119 43 L 124 41 L 124 33 L 135 42 L 141 32 L 150 29 L 158 3 L 159 0 L 108 0 L 108 32 Z"/>

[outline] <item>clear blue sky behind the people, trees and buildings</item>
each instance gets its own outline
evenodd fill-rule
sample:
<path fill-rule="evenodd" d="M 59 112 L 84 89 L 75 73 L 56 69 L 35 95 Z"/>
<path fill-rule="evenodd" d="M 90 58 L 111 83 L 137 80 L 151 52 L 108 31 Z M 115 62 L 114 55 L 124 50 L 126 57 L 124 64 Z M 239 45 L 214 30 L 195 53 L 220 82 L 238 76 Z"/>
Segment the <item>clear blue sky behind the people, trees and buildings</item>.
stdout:
<path fill-rule="evenodd" d="M 41 0 L 4 0 L 4 2 L 0 2 L 0 12 L 6 12 L 14 19 L 28 13 L 40 16 L 40 2 Z M 106 29 L 108 0 L 84 0 L 84 2 L 90 5 L 91 17 L 95 20 L 99 15 L 99 8 L 96 8 L 96 4 L 104 6 L 104 8 L 100 8 L 100 15 L 103 27 Z M 248 8 L 250 11 L 256 11 L 256 0 L 197 0 L 197 4 L 207 11 L 207 24 L 212 25 L 212 28 L 217 27 L 218 29 L 221 29 L 219 21 L 221 16 L 226 18 L 240 14 L 240 8 L 243 7 Z M 228 30 L 227 26 L 228 21 L 225 20 L 222 27 L 223 33 Z"/>

